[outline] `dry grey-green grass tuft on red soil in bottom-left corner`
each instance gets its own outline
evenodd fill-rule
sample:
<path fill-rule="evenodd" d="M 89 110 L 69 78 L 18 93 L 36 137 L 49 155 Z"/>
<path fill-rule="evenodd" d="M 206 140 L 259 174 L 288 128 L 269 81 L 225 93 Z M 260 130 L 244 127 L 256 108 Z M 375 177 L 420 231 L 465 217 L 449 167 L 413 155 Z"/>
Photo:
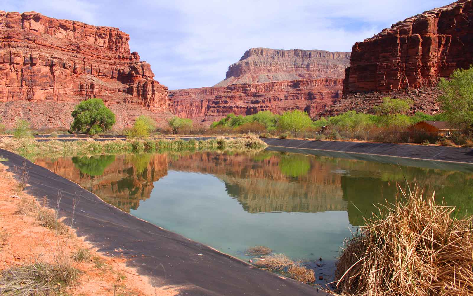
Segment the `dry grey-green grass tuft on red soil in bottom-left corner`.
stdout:
<path fill-rule="evenodd" d="M 66 264 L 35 262 L 14 266 L 0 273 L 0 292 L 4 296 L 63 295 L 77 279 L 79 271 Z"/>

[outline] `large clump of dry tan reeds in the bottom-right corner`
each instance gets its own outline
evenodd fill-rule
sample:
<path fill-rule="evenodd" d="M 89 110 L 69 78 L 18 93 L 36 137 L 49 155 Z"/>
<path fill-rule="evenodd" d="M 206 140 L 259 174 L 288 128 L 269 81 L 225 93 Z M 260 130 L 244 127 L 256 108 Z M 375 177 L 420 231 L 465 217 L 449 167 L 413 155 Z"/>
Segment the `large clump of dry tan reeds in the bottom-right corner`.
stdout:
<path fill-rule="evenodd" d="M 401 190 L 402 191 L 402 190 Z M 452 218 L 455 207 L 424 200 L 380 208 L 346 242 L 336 263 L 336 292 L 357 296 L 472 295 L 472 217 Z"/>

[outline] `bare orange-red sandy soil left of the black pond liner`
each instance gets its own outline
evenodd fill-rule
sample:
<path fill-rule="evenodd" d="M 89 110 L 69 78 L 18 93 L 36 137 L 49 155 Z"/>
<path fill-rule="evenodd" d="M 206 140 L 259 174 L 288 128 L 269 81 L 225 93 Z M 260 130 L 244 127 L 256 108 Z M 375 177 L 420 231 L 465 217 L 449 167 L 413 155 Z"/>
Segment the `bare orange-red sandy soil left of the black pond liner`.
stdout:
<path fill-rule="evenodd" d="M 16 214 L 17 205 L 23 199 L 35 199 L 18 189 L 7 168 L 0 163 L 0 272 L 35 260 L 53 263 L 65 258 L 80 271 L 76 283 L 65 288 L 67 295 L 174 296 L 179 293 L 178 287 L 153 287 L 149 278 L 126 266 L 125 258 L 98 252 L 70 227 L 67 233 L 58 234 L 35 223 L 34 213 Z M 78 263 L 70 259 L 80 248 L 89 249 L 92 260 Z"/>

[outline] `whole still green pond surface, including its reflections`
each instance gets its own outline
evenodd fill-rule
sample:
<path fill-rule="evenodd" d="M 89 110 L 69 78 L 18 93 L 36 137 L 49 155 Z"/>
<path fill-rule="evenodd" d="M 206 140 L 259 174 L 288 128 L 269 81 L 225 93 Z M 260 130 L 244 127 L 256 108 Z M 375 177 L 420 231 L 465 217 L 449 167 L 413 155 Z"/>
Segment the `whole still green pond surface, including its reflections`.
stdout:
<path fill-rule="evenodd" d="M 264 245 L 333 262 L 373 204 L 417 183 L 473 213 L 473 166 L 327 152 L 168 152 L 37 159 L 141 219 L 242 259 Z M 354 159 L 353 157 L 364 157 Z M 399 162 L 400 166 L 396 163 Z"/>

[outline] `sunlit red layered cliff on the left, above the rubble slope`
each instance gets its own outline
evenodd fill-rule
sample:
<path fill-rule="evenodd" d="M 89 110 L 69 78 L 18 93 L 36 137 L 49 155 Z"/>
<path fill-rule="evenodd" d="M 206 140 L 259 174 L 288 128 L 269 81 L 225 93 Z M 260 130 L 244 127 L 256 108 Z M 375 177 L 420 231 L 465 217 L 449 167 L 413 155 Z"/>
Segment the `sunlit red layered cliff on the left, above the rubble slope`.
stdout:
<path fill-rule="evenodd" d="M 150 65 L 138 53 L 130 52 L 129 40 L 118 28 L 0 11 L 0 101 L 96 97 L 108 106 L 166 112 L 167 88 L 153 79 Z M 56 117 L 68 127 L 70 113 L 63 113 Z"/>

